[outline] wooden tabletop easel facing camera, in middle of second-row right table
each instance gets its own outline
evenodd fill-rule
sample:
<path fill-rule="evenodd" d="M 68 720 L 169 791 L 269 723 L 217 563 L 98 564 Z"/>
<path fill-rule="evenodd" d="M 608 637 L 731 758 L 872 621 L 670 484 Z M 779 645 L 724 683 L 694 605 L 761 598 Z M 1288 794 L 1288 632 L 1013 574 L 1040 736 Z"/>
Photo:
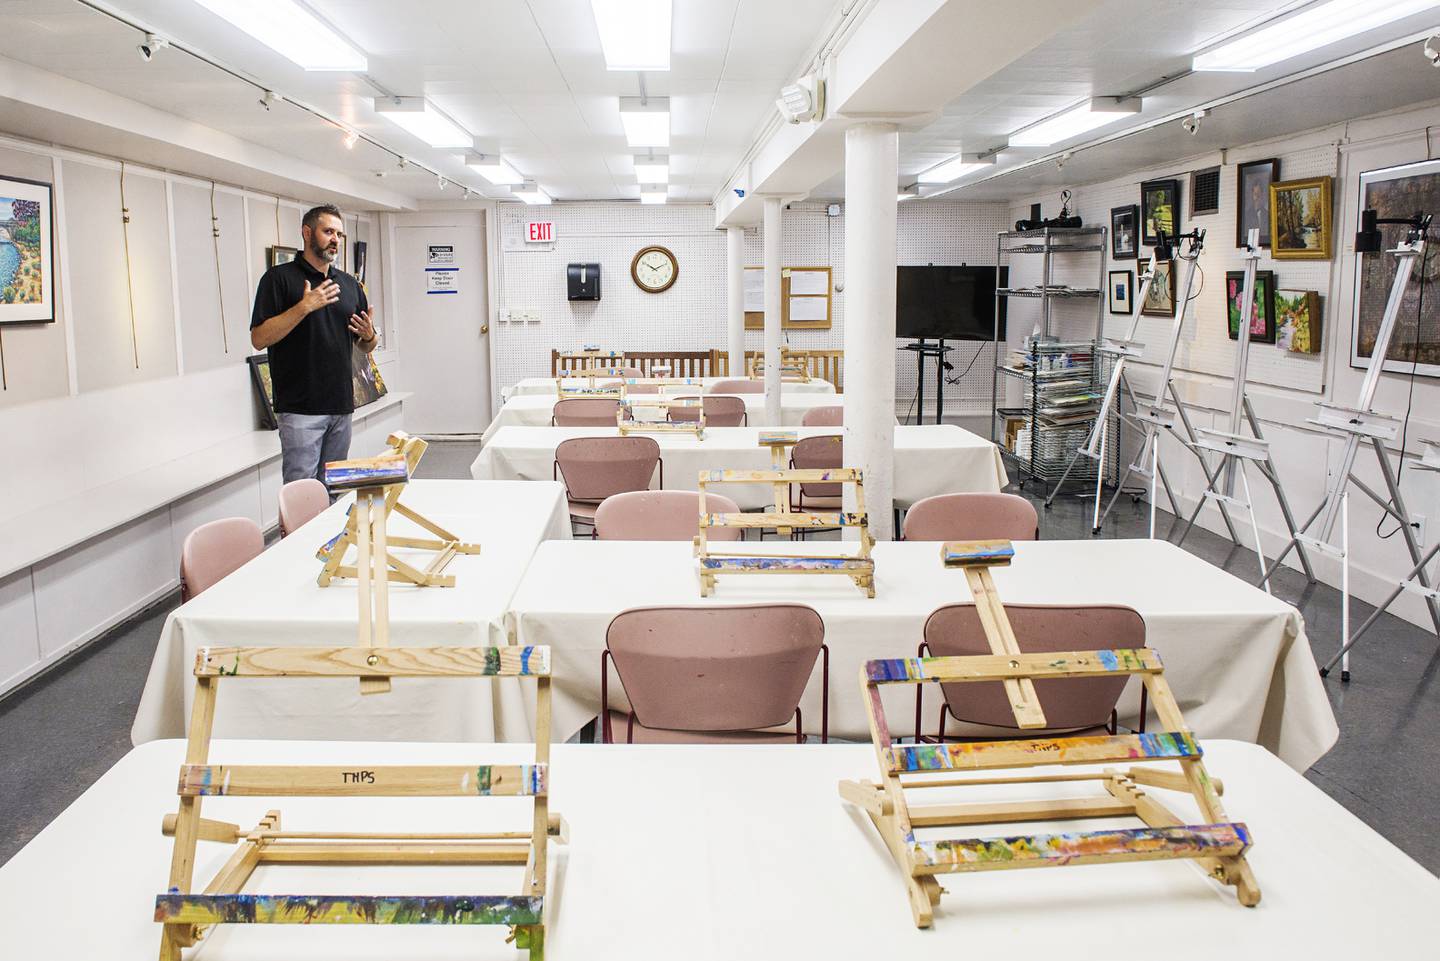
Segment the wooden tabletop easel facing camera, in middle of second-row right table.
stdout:
<path fill-rule="evenodd" d="M 710 513 L 706 510 L 706 487 L 708 484 L 770 484 L 779 496 L 780 486 L 789 484 L 854 484 L 855 510 L 851 513 Z M 700 471 L 700 533 L 696 536 L 696 556 L 700 558 L 700 596 L 714 592 L 716 576 L 721 573 L 838 573 L 855 582 L 865 596 L 876 596 L 876 559 L 870 556 L 876 546 L 865 519 L 865 488 L 863 474 L 854 467 L 818 470 L 769 470 L 769 471 Z M 710 549 L 706 532 L 711 527 L 776 527 L 796 530 L 821 530 L 828 527 L 857 527 L 860 530 L 860 552 L 854 555 L 791 555 L 791 553 L 734 553 Z"/>

